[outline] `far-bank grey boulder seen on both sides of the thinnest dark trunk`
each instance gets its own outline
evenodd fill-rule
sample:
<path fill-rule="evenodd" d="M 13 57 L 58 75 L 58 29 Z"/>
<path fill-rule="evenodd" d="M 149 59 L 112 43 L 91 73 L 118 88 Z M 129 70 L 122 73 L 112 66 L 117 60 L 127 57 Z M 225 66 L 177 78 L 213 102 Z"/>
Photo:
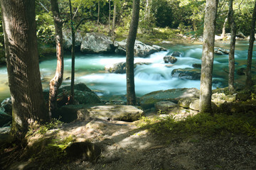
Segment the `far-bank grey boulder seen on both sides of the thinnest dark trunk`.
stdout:
<path fill-rule="evenodd" d="M 82 35 L 79 32 L 75 33 L 75 49 L 80 50 L 82 43 Z M 63 48 L 64 50 L 71 50 L 72 47 L 72 35 L 70 30 L 63 31 Z"/>

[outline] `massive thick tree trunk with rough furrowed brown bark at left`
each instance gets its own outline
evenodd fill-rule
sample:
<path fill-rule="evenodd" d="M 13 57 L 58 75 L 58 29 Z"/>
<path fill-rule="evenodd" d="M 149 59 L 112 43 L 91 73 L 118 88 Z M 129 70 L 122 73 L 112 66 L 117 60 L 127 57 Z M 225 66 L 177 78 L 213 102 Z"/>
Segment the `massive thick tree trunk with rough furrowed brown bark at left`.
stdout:
<path fill-rule="evenodd" d="M 12 101 L 11 134 L 22 139 L 29 124 L 49 120 L 39 71 L 35 1 L 1 0 L 1 13 Z"/>

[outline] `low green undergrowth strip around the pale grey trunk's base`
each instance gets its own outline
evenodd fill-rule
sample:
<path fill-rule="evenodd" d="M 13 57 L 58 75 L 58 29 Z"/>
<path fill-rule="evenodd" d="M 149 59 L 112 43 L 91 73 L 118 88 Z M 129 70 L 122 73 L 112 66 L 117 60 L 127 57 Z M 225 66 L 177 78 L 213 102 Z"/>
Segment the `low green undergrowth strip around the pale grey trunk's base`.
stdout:
<path fill-rule="evenodd" d="M 256 137 L 255 113 L 227 115 L 225 113 L 198 113 L 183 120 L 174 115 L 161 118 L 142 117 L 138 126 L 161 135 L 194 135 L 213 137 L 216 135 L 240 134 Z"/>

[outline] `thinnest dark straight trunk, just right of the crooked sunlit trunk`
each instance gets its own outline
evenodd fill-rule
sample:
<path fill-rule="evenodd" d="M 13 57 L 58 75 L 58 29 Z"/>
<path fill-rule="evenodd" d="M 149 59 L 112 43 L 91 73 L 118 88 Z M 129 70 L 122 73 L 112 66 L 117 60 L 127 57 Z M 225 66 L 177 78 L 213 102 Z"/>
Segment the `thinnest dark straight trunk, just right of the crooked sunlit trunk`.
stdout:
<path fill-rule="evenodd" d="M 72 47 L 71 47 L 71 87 L 70 87 L 70 104 L 73 104 L 75 101 L 75 93 L 74 93 L 74 86 L 75 86 L 75 28 L 73 22 L 73 12 L 72 12 L 72 5 L 71 0 L 70 3 L 70 26 L 71 26 L 71 34 L 72 34 Z"/>

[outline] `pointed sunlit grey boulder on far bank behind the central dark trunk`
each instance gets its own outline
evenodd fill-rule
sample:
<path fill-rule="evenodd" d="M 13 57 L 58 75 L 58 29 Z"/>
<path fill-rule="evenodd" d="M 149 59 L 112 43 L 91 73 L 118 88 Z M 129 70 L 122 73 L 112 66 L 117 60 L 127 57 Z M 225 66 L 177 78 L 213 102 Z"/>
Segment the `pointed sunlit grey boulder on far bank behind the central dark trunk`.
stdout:
<path fill-rule="evenodd" d="M 115 52 L 117 52 L 117 54 L 119 55 L 123 55 L 124 50 L 126 49 L 126 45 L 127 45 L 127 40 L 122 40 L 117 42 L 117 49 L 115 50 Z M 159 48 L 156 49 L 155 47 L 152 47 L 150 45 L 146 45 L 142 42 L 140 42 L 139 40 L 135 41 L 134 44 L 134 56 L 137 57 L 147 57 L 149 55 L 151 55 L 154 52 L 159 52 Z"/>

